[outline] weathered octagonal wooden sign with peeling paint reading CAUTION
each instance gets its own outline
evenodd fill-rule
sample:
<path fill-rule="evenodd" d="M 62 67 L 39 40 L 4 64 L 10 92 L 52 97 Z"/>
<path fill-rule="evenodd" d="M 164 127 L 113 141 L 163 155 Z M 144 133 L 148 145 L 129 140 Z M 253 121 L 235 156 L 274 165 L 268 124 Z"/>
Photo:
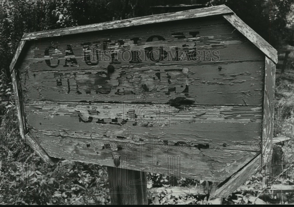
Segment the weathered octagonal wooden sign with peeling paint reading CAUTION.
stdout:
<path fill-rule="evenodd" d="M 47 162 L 217 181 L 224 197 L 271 152 L 275 63 L 222 5 L 27 33 L 11 72 Z"/>

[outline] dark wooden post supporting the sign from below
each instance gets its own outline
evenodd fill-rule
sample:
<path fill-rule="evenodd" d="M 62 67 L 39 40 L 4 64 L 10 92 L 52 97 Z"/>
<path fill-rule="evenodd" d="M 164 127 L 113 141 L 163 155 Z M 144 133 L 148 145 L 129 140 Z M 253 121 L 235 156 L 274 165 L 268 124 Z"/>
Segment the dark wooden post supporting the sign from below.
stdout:
<path fill-rule="evenodd" d="M 107 166 L 112 205 L 147 205 L 146 173 Z"/>

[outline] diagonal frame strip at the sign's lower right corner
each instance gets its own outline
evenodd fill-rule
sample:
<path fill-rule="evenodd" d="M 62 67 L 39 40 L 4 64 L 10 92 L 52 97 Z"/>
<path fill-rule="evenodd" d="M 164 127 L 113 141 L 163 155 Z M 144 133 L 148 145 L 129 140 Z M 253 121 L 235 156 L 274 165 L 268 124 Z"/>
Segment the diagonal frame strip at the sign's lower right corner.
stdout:
<path fill-rule="evenodd" d="M 253 175 L 257 170 L 261 169 L 262 156 L 259 154 L 253 160 L 251 160 L 246 166 L 240 169 L 238 172 L 233 174 L 220 184 L 216 189 L 216 197 L 227 197 L 243 183 L 245 183 L 251 175 Z"/>

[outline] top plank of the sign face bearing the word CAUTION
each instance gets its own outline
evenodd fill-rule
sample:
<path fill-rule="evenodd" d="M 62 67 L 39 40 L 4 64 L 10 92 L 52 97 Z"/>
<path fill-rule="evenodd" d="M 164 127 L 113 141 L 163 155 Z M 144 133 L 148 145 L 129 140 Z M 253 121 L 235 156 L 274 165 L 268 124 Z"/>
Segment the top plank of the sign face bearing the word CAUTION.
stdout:
<path fill-rule="evenodd" d="M 40 41 L 29 41 L 30 47 L 21 70 L 25 72 L 26 70 L 106 69 L 108 65 L 113 65 L 117 69 L 246 60 L 264 61 L 264 54 L 253 47 L 241 33 L 234 30 L 235 28 L 221 17 L 201 19 L 196 22 L 181 20 L 148 27 L 96 31 L 66 38 L 43 38 Z M 45 53 L 47 48 L 49 49 Z M 146 52 L 151 49 L 154 51 L 153 58 L 151 53 Z M 142 61 L 131 60 L 131 51 L 140 52 L 138 57 Z M 176 51 L 178 51 L 178 60 L 173 58 L 176 57 Z M 193 53 L 194 59 L 187 60 L 193 51 L 196 51 Z M 116 56 L 111 59 L 112 53 L 116 53 Z M 96 54 L 99 54 L 98 58 Z M 86 61 L 86 55 L 89 55 L 91 63 Z M 76 62 L 69 62 L 71 58 L 75 58 Z M 98 59 L 99 62 L 96 61 Z M 47 65 L 48 61 L 51 66 Z"/>

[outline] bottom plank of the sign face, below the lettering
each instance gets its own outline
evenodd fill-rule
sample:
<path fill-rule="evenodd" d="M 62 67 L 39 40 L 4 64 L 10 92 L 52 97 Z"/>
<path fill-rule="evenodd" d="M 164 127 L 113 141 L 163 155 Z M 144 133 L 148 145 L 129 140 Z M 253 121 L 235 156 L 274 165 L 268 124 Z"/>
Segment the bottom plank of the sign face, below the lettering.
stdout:
<path fill-rule="evenodd" d="M 52 157 L 113 166 L 114 156 L 126 156 L 127 158 L 119 163 L 115 162 L 117 167 L 200 180 L 224 180 L 258 154 L 252 151 L 198 149 L 181 145 L 135 145 L 122 142 L 120 139 L 83 139 L 42 129 L 29 131 L 33 137 L 38 137 L 44 142 L 44 150 Z"/>

